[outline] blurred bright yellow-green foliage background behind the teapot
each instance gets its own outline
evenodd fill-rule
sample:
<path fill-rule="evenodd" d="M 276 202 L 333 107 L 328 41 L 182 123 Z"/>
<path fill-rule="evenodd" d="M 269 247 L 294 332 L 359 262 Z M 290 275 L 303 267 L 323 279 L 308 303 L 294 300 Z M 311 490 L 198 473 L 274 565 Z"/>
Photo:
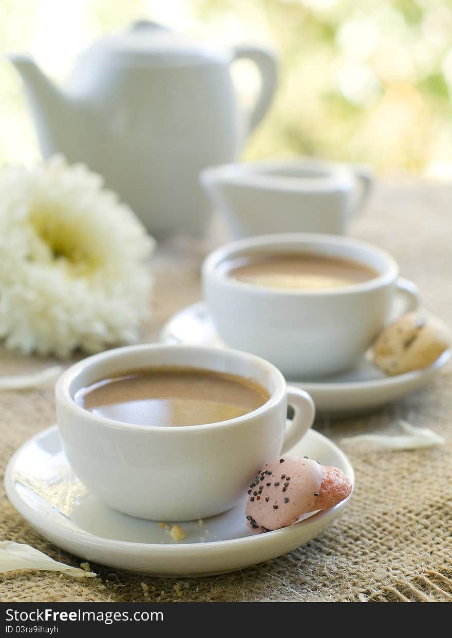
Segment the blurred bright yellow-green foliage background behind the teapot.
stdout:
<path fill-rule="evenodd" d="M 280 57 L 278 95 L 243 158 L 308 154 L 380 173 L 452 176 L 452 0 L 1 0 L 0 50 L 56 80 L 101 33 L 140 17 Z M 250 68 L 236 71 L 246 100 Z M 0 61 L 0 164 L 38 146 L 19 77 Z"/>

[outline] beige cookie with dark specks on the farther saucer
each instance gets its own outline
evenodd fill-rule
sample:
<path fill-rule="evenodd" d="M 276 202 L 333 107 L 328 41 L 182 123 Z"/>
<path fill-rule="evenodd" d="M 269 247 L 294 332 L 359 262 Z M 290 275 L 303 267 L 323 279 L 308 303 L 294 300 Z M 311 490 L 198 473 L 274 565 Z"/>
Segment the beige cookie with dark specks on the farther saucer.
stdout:
<path fill-rule="evenodd" d="M 424 311 L 403 315 L 383 329 L 369 358 L 387 375 L 402 375 L 431 366 L 451 345 L 451 332 Z"/>

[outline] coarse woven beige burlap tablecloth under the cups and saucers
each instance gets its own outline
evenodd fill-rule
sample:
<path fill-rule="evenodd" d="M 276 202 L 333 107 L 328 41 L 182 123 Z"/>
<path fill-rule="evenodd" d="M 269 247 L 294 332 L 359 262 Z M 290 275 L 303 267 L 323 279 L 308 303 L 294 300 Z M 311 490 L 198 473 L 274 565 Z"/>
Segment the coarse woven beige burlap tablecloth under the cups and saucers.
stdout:
<path fill-rule="evenodd" d="M 452 325 L 452 187 L 427 182 L 379 184 L 352 235 L 388 249 L 402 275 L 418 283 L 423 304 Z M 153 320 L 146 340 L 179 309 L 200 299 L 199 266 L 219 231 L 204 244 L 161 246 Z M 33 371 L 49 360 L 0 350 L 0 374 Z M 3 601 L 405 601 L 452 600 L 452 368 L 425 390 L 373 412 L 315 427 L 335 441 L 396 429 L 399 418 L 430 427 L 446 445 L 403 452 L 343 449 L 356 470 L 345 514 L 319 538 L 243 572 L 200 579 L 163 579 L 91 564 L 98 578 L 79 582 L 47 572 L 0 575 Z M 2 471 L 17 447 L 55 420 L 52 388 L 0 392 Z M 71 556 L 39 537 L 8 502 L 3 482 L 0 539 L 34 545 L 72 565 Z M 142 587 L 149 586 L 149 591 Z"/>

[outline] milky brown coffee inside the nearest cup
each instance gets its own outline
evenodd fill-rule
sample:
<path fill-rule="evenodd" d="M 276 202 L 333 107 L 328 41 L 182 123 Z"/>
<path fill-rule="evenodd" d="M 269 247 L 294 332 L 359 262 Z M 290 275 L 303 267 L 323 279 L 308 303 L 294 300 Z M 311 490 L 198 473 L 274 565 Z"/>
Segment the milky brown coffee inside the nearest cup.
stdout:
<path fill-rule="evenodd" d="M 181 427 L 242 417 L 269 399 L 238 375 L 197 368 L 129 370 L 81 388 L 75 403 L 100 417 L 137 426 Z"/>

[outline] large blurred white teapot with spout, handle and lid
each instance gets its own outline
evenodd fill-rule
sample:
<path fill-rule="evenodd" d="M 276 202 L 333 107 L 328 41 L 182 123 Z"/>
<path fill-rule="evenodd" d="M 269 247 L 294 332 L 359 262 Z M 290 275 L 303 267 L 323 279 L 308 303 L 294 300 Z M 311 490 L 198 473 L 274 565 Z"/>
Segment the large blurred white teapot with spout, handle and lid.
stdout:
<path fill-rule="evenodd" d="M 103 175 L 156 236 L 204 230 L 200 170 L 236 157 L 276 88 L 271 52 L 214 50 L 144 20 L 82 52 L 64 90 L 29 56 L 9 57 L 26 85 L 43 156 L 62 152 Z M 262 78 L 246 127 L 230 75 L 239 58 L 251 59 Z"/>

